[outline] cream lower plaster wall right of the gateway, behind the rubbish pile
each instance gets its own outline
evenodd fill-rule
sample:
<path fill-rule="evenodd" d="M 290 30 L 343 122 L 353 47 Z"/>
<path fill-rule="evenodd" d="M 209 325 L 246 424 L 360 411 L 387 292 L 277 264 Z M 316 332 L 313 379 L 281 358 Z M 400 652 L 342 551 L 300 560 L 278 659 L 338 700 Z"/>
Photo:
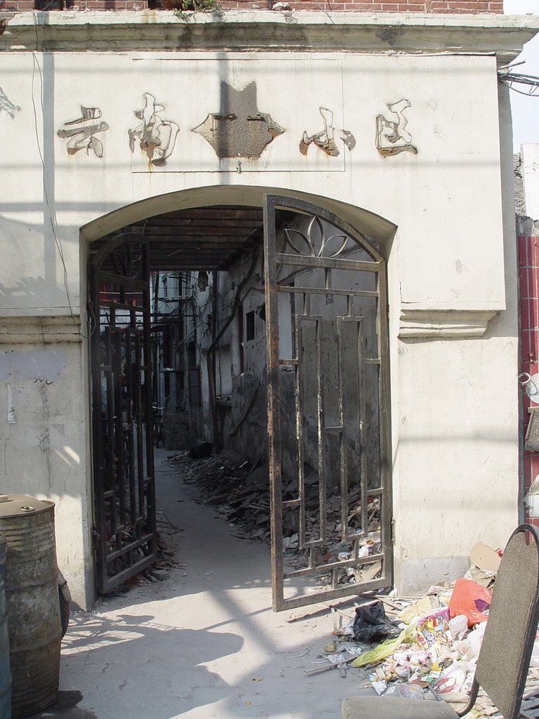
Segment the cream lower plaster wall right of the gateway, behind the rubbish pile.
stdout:
<path fill-rule="evenodd" d="M 466 571 L 475 539 L 505 546 L 519 521 L 517 257 L 507 94 L 500 88 L 507 310 L 480 339 L 392 344 L 395 579 L 410 592 Z"/>

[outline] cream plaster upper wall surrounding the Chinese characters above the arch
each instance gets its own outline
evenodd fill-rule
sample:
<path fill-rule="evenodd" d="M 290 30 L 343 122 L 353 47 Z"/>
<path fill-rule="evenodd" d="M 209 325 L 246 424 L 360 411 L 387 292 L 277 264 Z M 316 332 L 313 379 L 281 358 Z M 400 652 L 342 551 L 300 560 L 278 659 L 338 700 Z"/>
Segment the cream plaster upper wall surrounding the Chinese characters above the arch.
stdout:
<path fill-rule="evenodd" d="M 78 300 L 75 228 L 138 199 L 194 186 L 241 185 L 247 180 L 344 199 L 395 222 L 400 227 L 405 303 L 438 309 L 503 307 L 495 58 L 328 55 L 313 59 L 301 53 L 266 54 L 263 61 L 252 55 L 227 55 L 223 60 L 209 53 L 204 59 L 195 58 L 115 55 L 112 70 L 110 56 L 104 53 L 92 55 L 91 64 L 84 53 L 37 55 L 42 65 L 40 83 L 31 57 L 4 54 L 1 86 L 21 111 L 13 119 L 0 115 L 6 139 L 3 162 L 10 179 L 2 202 L 1 232 L 17 250 L 2 265 L 2 285 L 11 288 L 14 278 L 27 284 L 32 278 L 45 280 L 47 293 L 42 293 L 39 306 L 65 307 L 61 262 L 43 206 L 36 135 L 44 134 L 42 155 L 46 162 L 53 157 L 55 162 L 54 178 L 50 170 L 45 172 L 48 205 L 58 239 L 65 245 L 73 303 Z M 301 78 L 297 83 L 295 76 Z M 208 112 L 219 110 L 221 80 L 237 88 L 256 81 L 260 111 L 270 112 L 287 130 L 260 160 L 244 162 L 241 173 L 234 169 L 236 160 L 220 162 L 208 143 L 190 132 Z M 289 83 L 295 87 L 293 102 L 281 92 Z M 44 114 L 39 105 L 41 86 L 46 95 Z M 143 93 L 150 91 L 165 106 L 162 116 L 180 125 L 175 151 L 163 170 L 149 171 L 140 150 L 132 154 L 128 146 L 129 128 L 139 123 L 134 111 L 142 109 Z M 387 103 L 402 98 L 411 103 L 407 129 L 419 152 L 384 158 L 374 145 L 375 118 L 387 113 Z M 104 145 L 101 158 L 84 150 L 68 156 L 66 140 L 56 135 L 64 122 L 80 116 L 80 104 L 101 109 L 109 124 L 109 130 L 97 136 Z M 328 157 L 313 146 L 305 157 L 300 154 L 303 131 L 322 129 L 320 106 L 333 110 L 337 128 L 354 133 L 353 151 L 338 140 L 339 157 Z M 476 208 L 482 209 L 482 222 L 470 226 Z M 491 249 L 487 256 L 478 252 L 484 243 Z M 49 278 L 56 279 L 52 290 L 48 288 L 54 282 Z M 34 306 L 24 285 L 5 299 L 7 311 L 29 311 Z"/>

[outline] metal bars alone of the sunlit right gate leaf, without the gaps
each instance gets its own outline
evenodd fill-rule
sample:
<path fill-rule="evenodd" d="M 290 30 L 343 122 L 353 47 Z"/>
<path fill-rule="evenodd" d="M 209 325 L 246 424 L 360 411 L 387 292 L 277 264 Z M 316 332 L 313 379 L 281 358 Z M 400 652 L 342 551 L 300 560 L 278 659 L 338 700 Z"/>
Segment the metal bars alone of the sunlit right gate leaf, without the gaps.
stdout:
<path fill-rule="evenodd" d="M 286 252 L 277 252 L 277 231 L 275 213 L 277 209 L 295 211 L 298 214 L 318 216 L 331 225 L 344 232 L 364 249 L 372 261 L 347 260 L 345 257 L 313 257 L 312 255 L 292 255 Z M 272 592 L 273 609 L 280 611 L 292 609 L 321 601 L 332 600 L 336 597 L 361 594 L 370 590 L 392 585 L 392 541 L 391 541 L 391 477 L 390 477 L 390 402 L 389 402 L 389 349 L 387 339 L 387 283 L 386 265 L 377 250 L 372 247 L 367 238 L 357 232 L 352 226 L 333 213 L 306 203 L 296 198 L 266 195 L 264 196 L 264 280 L 266 300 L 266 332 L 267 332 L 267 410 L 268 410 L 268 456 L 270 464 L 270 505 L 271 505 L 271 557 L 272 557 Z M 290 283 L 290 275 L 285 278 L 286 284 L 278 280 L 278 267 L 297 267 L 305 270 L 321 268 L 325 273 L 324 287 L 308 288 Z M 331 270 L 352 270 L 362 273 L 375 273 L 377 278 L 376 290 L 333 290 L 331 283 Z M 278 294 L 289 293 L 291 297 L 292 313 L 292 347 L 295 357 L 280 359 L 279 351 L 279 310 Z M 324 426 L 323 405 L 323 357 L 321 354 L 322 317 L 311 314 L 310 295 L 346 296 L 348 316 L 336 318 L 338 332 L 338 347 L 336 348 L 339 368 L 338 380 L 338 415 L 340 426 Z M 298 312 L 295 298 L 303 298 L 302 307 Z M 354 315 L 354 297 L 372 297 L 377 300 L 377 357 L 364 357 L 361 347 L 361 323 L 363 318 Z M 308 540 L 305 536 L 305 477 L 303 472 L 303 386 L 300 375 L 300 334 L 301 324 L 304 321 L 315 322 L 316 332 L 316 386 L 317 386 L 317 425 L 318 425 L 318 476 L 319 476 L 319 508 L 321 510 L 320 539 Z M 378 413 L 379 413 L 379 486 L 369 489 L 367 477 L 367 461 L 365 453 L 361 451 L 361 531 L 351 531 L 348 526 L 349 505 L 347 493 L 349 478 L 347 476 L 347 440 L 348 430 L 344 416 L 344 358 L 342 350 L 342 328 L 344 322 L 354 322 L 357 326 L 357 393 L 359 398 L 359 444 L 364 446 L 364 433 L 366 406 L 363 386 L 363 367 L 378 365 Z M 287 365 L 295 372 L 295 441 L 297 443 L 297 472 L 298 496 L 295 499 L 282 500 L 282 437 L 280 427 L 281 408 L 281 380 L 280 367 Z M 319 564 L 316 561 L 316 549 L 326 541 L 326 435 L 333 432 L 338 438 L 338 453 L 340 461 L 340 487 L 341 487 L 341 531 L 342 538 L 351 542 L 353 549 L 351 559 L 331 564 Z M 359 559 L 359 540 L 366 536 L 367 512 L 369 498 L 378 498 L 380 503 L 380 536 L 382 549 L 379 553 Z M 285 572 L 282 554 L 282 510 L 283 507 L 295 507 L 299 511 L 299 546 L 308 551 L 308 566 Z M 355 585 L 336 586 L 336 577 L 341 568 L 354 564 L 382 563 L 381 576 L 374 580 L 358 582 Z M 285 598 L 285 579 L 314 575 L 316 572 L 331 572 L 332 588 L 322 592 L 299 594 L 295 597 Z"/>

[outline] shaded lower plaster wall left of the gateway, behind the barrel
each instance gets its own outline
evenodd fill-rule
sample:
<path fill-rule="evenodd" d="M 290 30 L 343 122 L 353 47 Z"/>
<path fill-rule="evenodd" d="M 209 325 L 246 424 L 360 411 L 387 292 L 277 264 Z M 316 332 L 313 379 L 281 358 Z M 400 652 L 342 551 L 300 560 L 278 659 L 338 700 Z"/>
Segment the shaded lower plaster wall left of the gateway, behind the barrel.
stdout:
<path fill-rule="evenodd" d="M 88 606 L 94 589 L 82 352 L 78 342 L 0 344 L 0 487 L 55 502 L 58 566 L 73 599 Z"/>

